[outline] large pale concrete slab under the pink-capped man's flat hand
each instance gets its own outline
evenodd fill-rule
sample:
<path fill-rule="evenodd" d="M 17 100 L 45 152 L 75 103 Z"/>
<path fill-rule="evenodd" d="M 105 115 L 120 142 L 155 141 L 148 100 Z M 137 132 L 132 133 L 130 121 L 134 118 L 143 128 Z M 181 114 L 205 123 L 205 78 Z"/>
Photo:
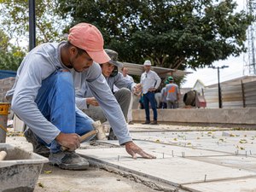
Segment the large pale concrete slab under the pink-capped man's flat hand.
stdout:
<path fill-rule="evenodd" d="M 205 175 L 207 175 L 207 181 L 256 176 L 256 173 L 237 168 L 212 165 L 186 158 L 170 157 L 170 155 L 166 154 L 164 158 L 157 154 L 158 159 L 156 160 L 133 160 L 122 148 L 80 149 L 78 153 L 90 160 L 96 160 L 125 172 L 131 172 L 175 186 L 185 183 L 204 182 Z M 149 153 L 155 154 L 152 151 Z"/>

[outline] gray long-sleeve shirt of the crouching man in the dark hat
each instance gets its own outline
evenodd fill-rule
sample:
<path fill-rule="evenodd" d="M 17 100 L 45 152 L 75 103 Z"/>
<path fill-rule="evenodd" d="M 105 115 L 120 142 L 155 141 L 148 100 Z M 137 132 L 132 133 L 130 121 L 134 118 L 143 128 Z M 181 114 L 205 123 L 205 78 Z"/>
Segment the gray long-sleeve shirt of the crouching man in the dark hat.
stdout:
<path fill-rule="evenodd" d="M 113 91 L 113 85 L 120 88 L 127 88 L 129 90 L 133 90 L 133 88 L 136 86 L 136 83 L 131 81 L 131 79 L 126 79 L 122 73 L 117 73 L 114 77 L 108 77 L 106 78 L 106 81 L 108 82 L 108 86 L 110 90 Z M 76 104 L 77 107 L 80 109 L 86 109 L 87 103 L 86 103 L 86 97 L 93 96 L 92 92 L 90 91 L 90 88 L 87 84 L 87 82 L 84 82 L 79 90 L 76 90 Z"/>

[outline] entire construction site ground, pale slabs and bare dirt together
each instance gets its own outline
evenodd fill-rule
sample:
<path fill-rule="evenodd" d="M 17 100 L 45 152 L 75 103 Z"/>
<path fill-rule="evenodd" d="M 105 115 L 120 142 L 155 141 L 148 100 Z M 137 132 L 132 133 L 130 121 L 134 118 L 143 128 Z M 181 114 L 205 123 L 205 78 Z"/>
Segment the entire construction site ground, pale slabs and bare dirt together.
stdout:
<path fill-rule="evenodd" d="M 117 141 L 82 143 L 87 171 L 45 164 L 35 191 L 256 191 L 256 131 L 188 125 L 129 125 L 155 160 L 133 160 Z M 32 151 L 22 134 L 6 143 Z"/>

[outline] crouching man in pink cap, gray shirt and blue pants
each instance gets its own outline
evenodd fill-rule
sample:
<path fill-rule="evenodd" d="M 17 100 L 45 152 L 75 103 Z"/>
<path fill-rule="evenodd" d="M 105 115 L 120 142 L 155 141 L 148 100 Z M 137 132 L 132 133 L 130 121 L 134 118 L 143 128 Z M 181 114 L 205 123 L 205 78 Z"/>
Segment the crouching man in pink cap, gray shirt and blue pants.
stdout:
<path fill-rule="evenodd" d="M 78 88 L 84 81 L 105 112 L 113 109 L 108 111 L 108 119 L 126 151 L 133 157 L 141 154 L 154 158 L 132 143 L 119 105 L 102 77 L 96 62 L 110 61 L 103 44 L 96 26 L 79 23 L 70 29 L 67 41 L 32 49 L 18 68 L 13 88 L 7 92 L 11 108 L 29 127 L 25 136 L 34 151 L 45 149 L 46 153 L 46 145 L 49 146 L 51 165 L 70 170 L 89 167 L 88 161 L 75 153 L 79 136 L 93 129 L 93 120 L 75 106 L 74 85 Z M 61 146 L 69 150 L 61 151 Z"/>

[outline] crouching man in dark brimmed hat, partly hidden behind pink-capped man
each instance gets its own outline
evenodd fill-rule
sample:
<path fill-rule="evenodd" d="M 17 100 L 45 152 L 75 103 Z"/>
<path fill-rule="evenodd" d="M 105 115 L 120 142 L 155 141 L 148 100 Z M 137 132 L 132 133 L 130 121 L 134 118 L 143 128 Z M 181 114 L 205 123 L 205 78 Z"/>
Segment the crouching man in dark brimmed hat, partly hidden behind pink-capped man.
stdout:
<path fill-rule="evenodd" d="M 118 61 L 118 53 L 112 49 L 105 49 L 105 52 L 110 57 L 110 61 L 100 64 L 102 67 L 102 75 L 108 82 L 108 86 L 119 103 L 122 112 L 127 118 L 128 109 L 131 101 L 131 92 L 141 92 L 141 84 L 136 84 L 131 79 L 125 79 L 122 73 L 119 73 L 118 67 L 123 67 L 123 63 Z M 113 92 L 114 85 L 119 88 L 116 92 Z M 106 121 L 106 117 L 102 112 L 102 108 L 97 107 L 98 103 L 91 94 L 88 84 L 84 82 L 82 88 L 76 91 L 76 104 L 78 108 L 84 109 L 84 113 L 88 114 L 94 120 Z M 113 130 L 110 129 L 108 136 L 109 140 L 116 139 L 113 134 Z"/>

